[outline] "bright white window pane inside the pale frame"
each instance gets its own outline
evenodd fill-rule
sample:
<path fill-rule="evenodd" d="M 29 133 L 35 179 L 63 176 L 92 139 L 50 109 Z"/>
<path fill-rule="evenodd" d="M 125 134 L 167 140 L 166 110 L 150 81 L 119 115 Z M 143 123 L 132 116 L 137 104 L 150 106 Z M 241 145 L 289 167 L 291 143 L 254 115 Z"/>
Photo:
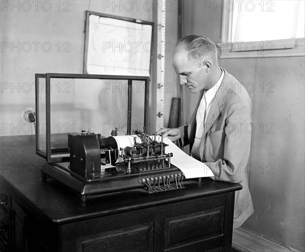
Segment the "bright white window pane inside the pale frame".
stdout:
<path fill-rule="evenodd" d="M 243 6 L 237 3 L 226 5 L 233 10 L 232 42 L 304 37 L 303 1 L 249 1 L 249 5 Z"/>

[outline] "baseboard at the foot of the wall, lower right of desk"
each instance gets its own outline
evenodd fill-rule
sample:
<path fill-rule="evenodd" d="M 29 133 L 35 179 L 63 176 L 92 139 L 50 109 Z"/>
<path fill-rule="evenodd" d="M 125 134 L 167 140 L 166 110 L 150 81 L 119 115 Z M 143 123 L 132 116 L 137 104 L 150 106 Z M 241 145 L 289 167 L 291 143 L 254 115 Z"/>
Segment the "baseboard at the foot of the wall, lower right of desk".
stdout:
<path fill-rule="evenodd" d="M 233 229 L 234 252 L 302 252 L 279 241 L 269 239 L 250 229 Z"/>

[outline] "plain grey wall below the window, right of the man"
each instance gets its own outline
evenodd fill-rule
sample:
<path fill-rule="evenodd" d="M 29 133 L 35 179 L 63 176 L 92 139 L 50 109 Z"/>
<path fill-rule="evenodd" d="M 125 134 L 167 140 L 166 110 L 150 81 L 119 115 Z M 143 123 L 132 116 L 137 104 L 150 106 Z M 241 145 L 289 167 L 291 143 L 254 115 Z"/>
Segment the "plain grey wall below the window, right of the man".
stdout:
<path fill-rule="evenodd" d="M 254 92 L 256 213 L 246 227 L 304 250 L 304 57 L 261 58 L 255 72 L 254 83 L 274 87 Z"/>

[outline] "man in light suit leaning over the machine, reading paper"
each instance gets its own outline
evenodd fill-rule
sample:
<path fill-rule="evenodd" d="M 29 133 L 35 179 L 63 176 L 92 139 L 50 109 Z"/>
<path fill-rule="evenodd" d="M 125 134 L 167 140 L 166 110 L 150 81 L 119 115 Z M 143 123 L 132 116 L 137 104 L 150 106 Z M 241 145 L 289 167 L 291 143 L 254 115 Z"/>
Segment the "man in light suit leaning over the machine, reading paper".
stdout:
<path fill-rule="evenodd" d="M 214 173 L 212 179 L 240 183 L 235 192 L 233 228 L 253 212 L 245 167 L 250 155 L 252 104 L 246 89 L 220 68 L 217 48 L 206 37 L 190 35 L 174 47 L 172 65 L 199 100 L 187 126 L 164 128 L 159 133 L 181 146 L 190 144 L 191 155 Z M 249 127 L 250 126 L 250 127 Z"/>

